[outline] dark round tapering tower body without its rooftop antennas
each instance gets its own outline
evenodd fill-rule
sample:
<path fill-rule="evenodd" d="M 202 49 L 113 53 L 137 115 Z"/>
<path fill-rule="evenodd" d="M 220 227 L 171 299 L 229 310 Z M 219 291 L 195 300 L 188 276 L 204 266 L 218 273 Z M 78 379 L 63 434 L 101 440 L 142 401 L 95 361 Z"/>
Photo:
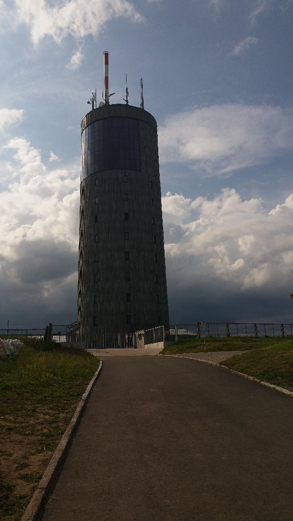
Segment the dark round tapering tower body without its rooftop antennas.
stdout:
<path fill-rule="evenodd" d="M 81 339 L 169 326 L 155 118 L 104 105 L 81 124 Z"/>

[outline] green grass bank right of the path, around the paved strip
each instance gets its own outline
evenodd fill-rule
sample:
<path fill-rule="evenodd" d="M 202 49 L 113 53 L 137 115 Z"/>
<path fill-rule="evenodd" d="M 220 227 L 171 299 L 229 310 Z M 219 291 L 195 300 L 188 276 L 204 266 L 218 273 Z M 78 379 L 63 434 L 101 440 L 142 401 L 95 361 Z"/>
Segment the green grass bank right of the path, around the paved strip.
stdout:
<path fill-rule="evenodd" d="M 208 337 L 189 338 L 165 347 L 161 354 L 203 351 L 248 351 L 221 362 L 240 373 L 293 391 L 293 338 Z"/>

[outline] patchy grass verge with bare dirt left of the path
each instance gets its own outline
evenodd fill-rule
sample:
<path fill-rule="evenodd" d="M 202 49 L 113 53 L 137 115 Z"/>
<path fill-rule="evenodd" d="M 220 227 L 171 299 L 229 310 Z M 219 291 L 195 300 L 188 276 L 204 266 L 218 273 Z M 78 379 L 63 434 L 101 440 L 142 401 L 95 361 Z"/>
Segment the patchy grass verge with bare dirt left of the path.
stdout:
<path fill-rule="evenodd" d="M 99 359 L 28 338 L 0 362 L 0 519 L 18 520 Z"/>

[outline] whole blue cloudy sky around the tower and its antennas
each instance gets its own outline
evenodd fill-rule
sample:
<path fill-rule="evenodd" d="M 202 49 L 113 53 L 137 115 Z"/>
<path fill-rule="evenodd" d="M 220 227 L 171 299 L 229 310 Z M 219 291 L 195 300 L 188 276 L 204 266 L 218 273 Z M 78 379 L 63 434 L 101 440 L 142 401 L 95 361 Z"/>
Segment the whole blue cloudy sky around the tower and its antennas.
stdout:
<path fill-rule="evenodd" d="M 77 317 L 80 123 L 157 120 L 170 324 L 293 322 L 293 0 L 0 0 L 0 328 Z"/>

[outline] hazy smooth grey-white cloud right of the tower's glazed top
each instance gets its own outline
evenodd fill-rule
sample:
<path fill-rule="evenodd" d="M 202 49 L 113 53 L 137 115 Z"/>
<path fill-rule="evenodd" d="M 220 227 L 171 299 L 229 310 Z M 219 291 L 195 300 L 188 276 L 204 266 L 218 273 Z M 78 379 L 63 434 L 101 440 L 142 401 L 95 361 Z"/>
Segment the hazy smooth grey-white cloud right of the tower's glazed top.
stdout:
<path fill-rule="evenodd" d="M 159 126 L 160 162 L 188 162 L 208 175 L 261 164 L 292 144 L 291 108 L 213 105 L 174 114 Z"/>

